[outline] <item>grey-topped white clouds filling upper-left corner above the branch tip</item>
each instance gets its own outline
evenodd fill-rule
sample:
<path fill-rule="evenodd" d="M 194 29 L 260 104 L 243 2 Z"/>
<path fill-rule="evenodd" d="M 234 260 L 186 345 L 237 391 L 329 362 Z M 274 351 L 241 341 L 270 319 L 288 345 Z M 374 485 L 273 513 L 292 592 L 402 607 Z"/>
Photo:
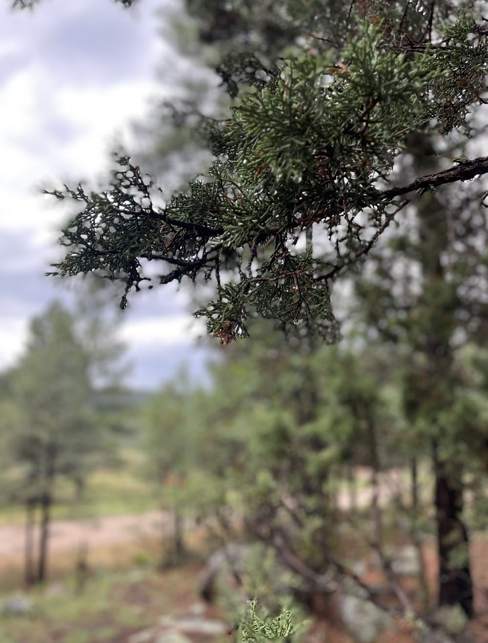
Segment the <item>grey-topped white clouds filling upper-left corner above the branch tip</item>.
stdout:
<path fill-rule="evenodd" d="M 135 13 L 109 0 L 51 0 L 34 12 L 0 6 L 0 228 L 59 226 L 64 212 L 47 215 L 36 188 L 59 183 L 60 174 L 95 179 L 107 165 L 114 132 L 130 143 L 130 120 L 141 118 L 160 90 L 156 59 L 170 55 L 157 37 L 157 4 L 149 0 Z M 17 65 L 10 64 L 13 55 Z M 80 65 L 83 75 L 75 73 Z M 108 75 L 103 83 L 96 82 L 100 70 Z"/>

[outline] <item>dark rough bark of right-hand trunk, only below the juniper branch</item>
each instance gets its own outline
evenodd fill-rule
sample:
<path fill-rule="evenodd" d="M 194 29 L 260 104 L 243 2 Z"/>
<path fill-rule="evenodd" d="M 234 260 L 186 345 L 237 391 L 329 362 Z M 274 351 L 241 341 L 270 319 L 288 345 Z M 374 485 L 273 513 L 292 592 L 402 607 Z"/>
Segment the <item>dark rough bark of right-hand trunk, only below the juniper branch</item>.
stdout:
<path fill-rule="evenodd" d="M 426 287 L 436 292 L 436 285 L 446 284 L 442 253 L 448 247 L 446 215 L 440 211 L 435 197 L 429 195 L 428 212 L 421 230 L 424 244 L 424 279 Z M 429 409 L 430 421 L 435 427 L 438 415 L 445 412 L 455 399 L 456 374 L 450 339 L 454 330 L 453 312 L 456 292 L 451 300 L 445 296 L 424 302 L 428 331 L 424 341 L 427 367 L 424 372 L 424 403 Z M 473 581 L 469 569 L 468 536 L 462 522 L 462 466 L 443 459 L 440 441 L 442 430 L 437 430 L 433 441 L 432 458 L 435 474 L 435 520 L 439 554 L 438 602 L 440 605 L 460 604 L 468 617 L 473 616 Z"/>

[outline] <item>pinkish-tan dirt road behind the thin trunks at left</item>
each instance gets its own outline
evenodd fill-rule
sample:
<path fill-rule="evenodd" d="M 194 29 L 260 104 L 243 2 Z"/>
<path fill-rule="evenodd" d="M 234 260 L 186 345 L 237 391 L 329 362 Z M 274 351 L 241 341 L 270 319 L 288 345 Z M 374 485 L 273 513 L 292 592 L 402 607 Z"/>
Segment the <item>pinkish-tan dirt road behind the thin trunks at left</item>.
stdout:
<path fill-rule="evenodd" d="M 50 552 L 88 549 L 119 543 L 154 539 L 172 532 L 170 512 L 151 511 L 139 515 L 107 516 L 92 520 L 56 520 L 51 525 Z M 24 528 L 0 527 L 0 565 L 24 552 Z"/>

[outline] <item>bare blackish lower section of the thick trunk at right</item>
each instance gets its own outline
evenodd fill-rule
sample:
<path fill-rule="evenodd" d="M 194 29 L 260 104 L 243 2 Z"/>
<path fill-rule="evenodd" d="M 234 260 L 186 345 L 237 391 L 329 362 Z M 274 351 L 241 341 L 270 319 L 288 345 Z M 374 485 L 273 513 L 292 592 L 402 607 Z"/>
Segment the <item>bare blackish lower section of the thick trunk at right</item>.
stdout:
<path fill-rule="evenodd" d="M 474 615 L 473 580 L 469 568 L 469 538 L 461 519 L 463 484 L 438 459 L 433 445 L 435 518 L 439 557 L 440 605 L 460 604 L 467 617 Z"/>

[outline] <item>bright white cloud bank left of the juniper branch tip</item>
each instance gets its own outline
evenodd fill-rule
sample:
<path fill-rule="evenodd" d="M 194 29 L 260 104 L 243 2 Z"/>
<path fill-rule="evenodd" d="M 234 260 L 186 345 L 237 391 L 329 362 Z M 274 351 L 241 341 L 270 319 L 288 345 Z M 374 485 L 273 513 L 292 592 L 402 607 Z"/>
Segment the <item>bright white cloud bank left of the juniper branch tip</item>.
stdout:
<path fill-rule="evenodd" d="M 53 208 L 47 217 L 39 194 L 41 184 L 59 185 L 59 174 L 92 181 L 107 166 L 114 132 L 131 144 L 129 122 L 146 110 L 158 86 L 148 79 L 127 80 L 103 88 L 50 86 L 36 66 L 10 79 L 0 90 L 0 226 L 9 230 L 46 230 L 66 216 Z M 49 98 L 43 98 L 48 95 Z M 49 136 L 44 123 L 69 130 L 66 140 Z M 21 216 L 10 216 L 22 212 Z"/>

